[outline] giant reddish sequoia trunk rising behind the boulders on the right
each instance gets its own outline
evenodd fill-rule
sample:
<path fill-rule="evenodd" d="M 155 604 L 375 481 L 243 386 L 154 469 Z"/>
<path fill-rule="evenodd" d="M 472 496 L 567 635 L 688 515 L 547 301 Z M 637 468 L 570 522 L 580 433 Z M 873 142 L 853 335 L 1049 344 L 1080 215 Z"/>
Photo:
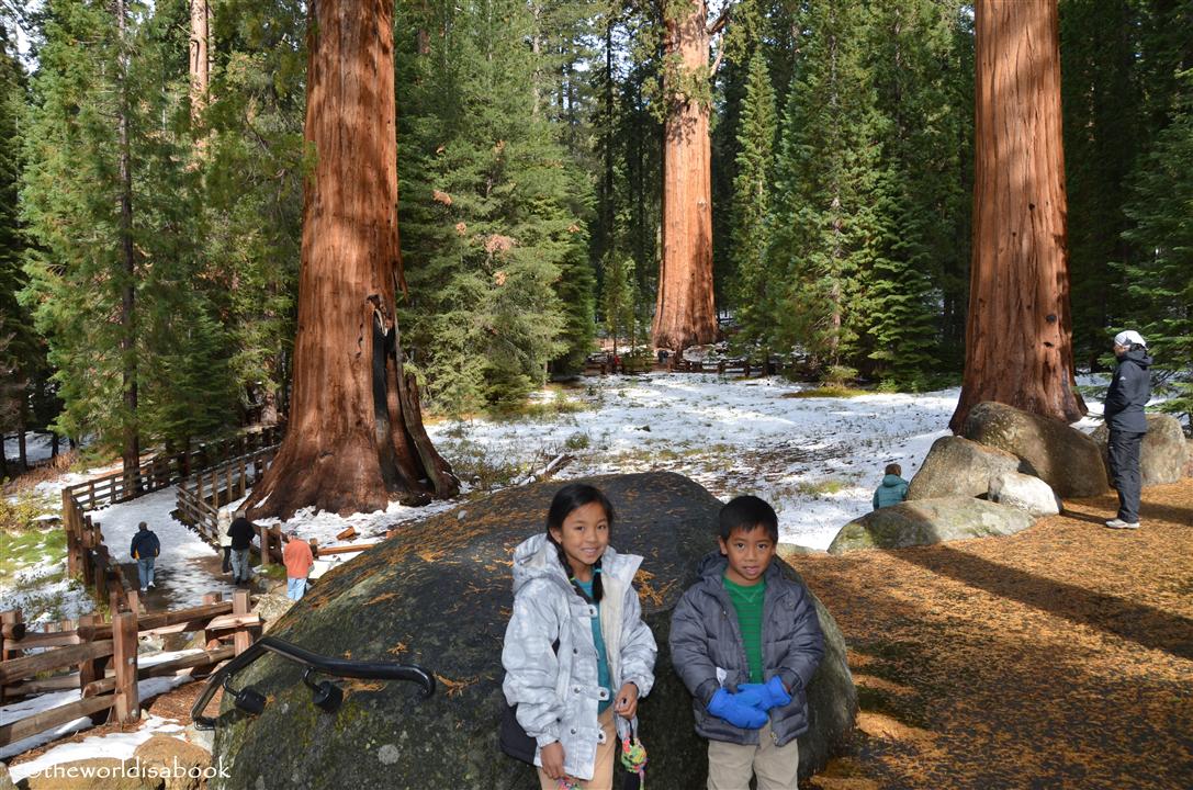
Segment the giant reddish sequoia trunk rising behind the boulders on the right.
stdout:
<path fill-rule="evenodd" d="M 973 264 L 965 377 L 950 427 L 981 401 L 1080 419 L 1061 141 L 1056 0 L 976 4 Z"/>

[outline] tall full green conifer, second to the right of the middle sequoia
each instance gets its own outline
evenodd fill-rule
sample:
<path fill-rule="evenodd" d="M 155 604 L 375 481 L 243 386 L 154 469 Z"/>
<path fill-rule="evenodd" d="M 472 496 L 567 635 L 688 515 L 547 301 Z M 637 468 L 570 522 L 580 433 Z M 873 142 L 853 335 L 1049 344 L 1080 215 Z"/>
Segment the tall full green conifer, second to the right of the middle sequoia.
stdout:
<path fill-rule="evenodd" d="M 865 6 L 806 7 L 808 38 L 784 111 L 769 254 L 784 272 L 777 345 L 803 348 L 839 377 L 864 356 L 865 297 L 876 232 L 872 191 L 883 118 L 865 64 Z M 859 345 L 860 344 L 860 345 Z"/>

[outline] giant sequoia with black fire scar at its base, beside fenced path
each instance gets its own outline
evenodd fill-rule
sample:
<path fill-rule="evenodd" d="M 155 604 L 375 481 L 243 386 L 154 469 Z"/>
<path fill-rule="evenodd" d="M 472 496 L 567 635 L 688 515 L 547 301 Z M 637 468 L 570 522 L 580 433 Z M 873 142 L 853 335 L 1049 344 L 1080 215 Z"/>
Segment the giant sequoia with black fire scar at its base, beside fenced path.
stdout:
<path fill-rule="evenodd" d="M 397 237 L 394 4 L 311 4 L 298 332 L 286 438 L 253 490 L 255 516 L 334 512 L 458 483 L 422 430 L 403 370 Z"/>

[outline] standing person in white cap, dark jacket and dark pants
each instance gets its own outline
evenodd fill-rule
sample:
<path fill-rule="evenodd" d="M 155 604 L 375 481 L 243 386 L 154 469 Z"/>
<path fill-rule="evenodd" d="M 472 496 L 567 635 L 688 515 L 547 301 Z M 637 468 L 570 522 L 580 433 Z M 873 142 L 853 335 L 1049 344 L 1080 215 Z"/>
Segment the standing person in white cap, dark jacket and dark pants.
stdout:
<path fill-rule="evenodd" d="M 1109 430 L 1107 452 L 1111 459 L 1111 477 L 1119 495 L 1118 516 L 1106 521 L 1112 530 L 1139 529 L 1139 446 L 1148 433 L 1148 418 L 1143 407 L 1151 397 L 1151 357 L 1148 341 L 1133 331 L 1114 335 L 1114 356 L 1118 366 L 1106 391 L 1102 415 Z"/>

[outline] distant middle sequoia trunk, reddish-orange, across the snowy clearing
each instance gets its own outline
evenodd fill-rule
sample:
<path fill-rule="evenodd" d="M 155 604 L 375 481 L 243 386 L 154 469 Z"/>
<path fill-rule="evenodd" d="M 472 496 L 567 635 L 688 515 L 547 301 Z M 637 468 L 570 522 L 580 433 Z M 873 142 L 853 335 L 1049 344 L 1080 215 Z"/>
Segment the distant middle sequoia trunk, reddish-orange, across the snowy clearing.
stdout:
<path fill-rule="evenodd" d="M 669 62 L 663 72 L 663 254 L 651 335 L 655 346 L 675 352 L 712 342 L 717 337 L 707 13 L 704 0 L 693 0 L 691 13 L 666 21 Z"/>

